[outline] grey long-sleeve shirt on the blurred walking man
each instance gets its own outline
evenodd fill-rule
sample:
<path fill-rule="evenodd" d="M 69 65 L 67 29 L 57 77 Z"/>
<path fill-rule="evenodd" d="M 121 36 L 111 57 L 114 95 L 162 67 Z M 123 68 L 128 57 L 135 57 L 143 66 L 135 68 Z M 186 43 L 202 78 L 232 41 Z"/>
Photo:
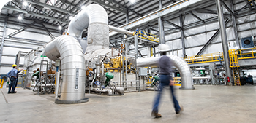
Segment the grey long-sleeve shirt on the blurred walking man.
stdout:
<path fill-rule="evenodd" d="M 159 61 L 160 74 L 172 74 L 173 73 L 173 63 L 170 61 L 170 57 L 163 55 Z"/>

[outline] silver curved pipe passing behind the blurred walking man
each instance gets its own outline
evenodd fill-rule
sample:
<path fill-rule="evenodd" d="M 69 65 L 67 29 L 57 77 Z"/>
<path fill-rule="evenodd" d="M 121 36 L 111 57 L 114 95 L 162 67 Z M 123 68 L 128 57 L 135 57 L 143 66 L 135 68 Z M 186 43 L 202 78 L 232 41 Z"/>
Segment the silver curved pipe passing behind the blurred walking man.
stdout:
<path fill-rule="evenodd" d="M 191 70 L 187 62 L 181 57 L 175 55 L 168 55 L 173 65 L 178 68 L 181 74 L 181 89 L 192 90 L 195 89 L 193 85 L 193 78 Z M 138 67 L 151 67 L 158 66 L 158 60 L 160 57 L 140 58 L 137 60 Z"/>

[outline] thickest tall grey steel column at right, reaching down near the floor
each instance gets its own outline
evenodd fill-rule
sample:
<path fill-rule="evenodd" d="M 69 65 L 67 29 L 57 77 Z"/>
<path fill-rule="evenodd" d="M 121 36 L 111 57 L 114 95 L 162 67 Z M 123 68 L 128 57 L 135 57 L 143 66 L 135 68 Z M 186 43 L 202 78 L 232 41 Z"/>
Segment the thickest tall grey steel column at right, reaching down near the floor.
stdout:
<path fill-rule="evenodd" d="M 230 69 L 230 57 L 228 55 L 227 33 L 226 33 L 226 27 L 225 27 L 225 22 L 223 17 L 223 8 L 220 0 L 217 0 L 217 12 L 219 17 L 220 33 L 222 36 L 222 49 L 223 49 L 224 62 L 225 62 L 225 72 L 227 77 L 230 78 L 230 82 L 233 82 L 233 77 L 231 75 L 231 69 Z M 227 82 L 227 85 L 232 85 L 230 82 Z"/>

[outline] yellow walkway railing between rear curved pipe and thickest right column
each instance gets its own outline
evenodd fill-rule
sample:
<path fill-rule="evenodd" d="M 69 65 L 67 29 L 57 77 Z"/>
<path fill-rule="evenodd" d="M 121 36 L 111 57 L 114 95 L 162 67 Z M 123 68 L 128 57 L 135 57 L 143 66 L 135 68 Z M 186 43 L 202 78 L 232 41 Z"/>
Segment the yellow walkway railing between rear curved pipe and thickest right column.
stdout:
<path fill-rule="evenodd" d="M 188 64 L 224 61 L 223 52 L 182 57 Z"/>

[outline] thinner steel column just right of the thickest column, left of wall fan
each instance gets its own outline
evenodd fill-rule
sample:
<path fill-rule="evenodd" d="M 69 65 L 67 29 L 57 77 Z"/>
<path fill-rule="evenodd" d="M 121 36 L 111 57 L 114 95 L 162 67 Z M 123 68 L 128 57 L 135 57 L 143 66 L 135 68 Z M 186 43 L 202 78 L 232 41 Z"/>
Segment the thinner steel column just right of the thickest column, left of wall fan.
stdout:
<path fill-rule="evenodd" d="M 234 5 L 233 5 L 233 0 L 231 0 L 231 11 L 234 13 Z M 235 39 L 236 39 L 236 47 L 238 47 L 238 49 L 241 49 L 240 43 L 239 43 L 239 37 L 238 37 L 238 31 L 237 31 L 237 26 L 236 26 L 236 17 L 235 15 L 232 15 L 232 21 L 233 21 L 233 30 L 234 30 L 234 34 L 235 34 Z"/>

